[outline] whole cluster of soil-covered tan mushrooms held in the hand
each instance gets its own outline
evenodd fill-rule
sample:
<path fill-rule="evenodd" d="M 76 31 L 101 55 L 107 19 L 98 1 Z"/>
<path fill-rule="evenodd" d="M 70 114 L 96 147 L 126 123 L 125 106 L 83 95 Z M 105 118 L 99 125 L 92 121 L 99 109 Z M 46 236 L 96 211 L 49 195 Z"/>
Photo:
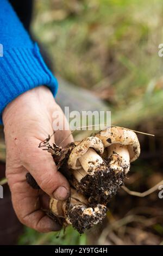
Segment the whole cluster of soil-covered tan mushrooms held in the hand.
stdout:
<path fill-rule="evenodd" d="M 42 147 L 42 146 L 41 146 Z M 133 162 L 140 155 L 134 131 L 109 127 L 61 149 L 48 142 L 43 147 L 52 154 L 58 170 L 71 185 L 68 200 L 50 199 L 51 216 L 61 224 L 72 224 L 80 234 L 105 218 L 109 201 L 124 184 Z"/>

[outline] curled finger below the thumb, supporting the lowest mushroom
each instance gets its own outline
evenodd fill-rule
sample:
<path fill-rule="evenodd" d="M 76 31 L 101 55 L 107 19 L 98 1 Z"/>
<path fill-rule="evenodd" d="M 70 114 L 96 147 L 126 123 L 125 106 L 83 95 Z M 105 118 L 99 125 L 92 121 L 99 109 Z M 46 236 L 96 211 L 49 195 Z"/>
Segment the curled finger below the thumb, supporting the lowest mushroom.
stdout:
<path fill-rule="evenodd" d="M 27 170 L 26 170 L 27 172 Z M 22 169 L 21 180 L 10 186 L 12 204 L 18 219 L 30 228 L 39 232 L 58 231 L 60 224 L 51 220 L 45 212 L 40 210 L 38 191 L 30 187 L 23 178 L 25 175 Z"/>

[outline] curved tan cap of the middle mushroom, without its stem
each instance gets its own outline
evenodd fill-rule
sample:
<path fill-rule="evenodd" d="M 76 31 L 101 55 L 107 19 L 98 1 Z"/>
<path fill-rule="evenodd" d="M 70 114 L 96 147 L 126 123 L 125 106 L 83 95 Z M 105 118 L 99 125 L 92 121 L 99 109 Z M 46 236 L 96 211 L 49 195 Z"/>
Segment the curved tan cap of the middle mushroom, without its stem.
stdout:
<path fill-rule="evenodd" d="M 68 167 L 72 169 L 82 168 L 78 159 L 83 156 L 89 148 L 95 149 L 98 154 L 103 154 L 104 152 L 104 145 L 101 139 L 98 137 L 87 137 L 83 139 L 83 141 L 79 142 L 71 151 L 68 158 Z"/>

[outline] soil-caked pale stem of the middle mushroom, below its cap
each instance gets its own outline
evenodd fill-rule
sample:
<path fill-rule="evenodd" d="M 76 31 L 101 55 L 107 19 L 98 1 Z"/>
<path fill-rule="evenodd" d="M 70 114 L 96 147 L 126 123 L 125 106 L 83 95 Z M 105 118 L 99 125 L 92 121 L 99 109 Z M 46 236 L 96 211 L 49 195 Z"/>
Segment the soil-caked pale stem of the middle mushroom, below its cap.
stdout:
<path fill-rule="evenodd" d="M 82 168 L 71 169 L 73 175 L 73 186 L 79 193 L 84 194 L 89 202 L 106 202 L 108 197 L 109 168 L 92 148 L 87 149 L 86 153 L 79 157 L 78 163 Z M 106 183 L 104 185 L 104 183 Z"/>

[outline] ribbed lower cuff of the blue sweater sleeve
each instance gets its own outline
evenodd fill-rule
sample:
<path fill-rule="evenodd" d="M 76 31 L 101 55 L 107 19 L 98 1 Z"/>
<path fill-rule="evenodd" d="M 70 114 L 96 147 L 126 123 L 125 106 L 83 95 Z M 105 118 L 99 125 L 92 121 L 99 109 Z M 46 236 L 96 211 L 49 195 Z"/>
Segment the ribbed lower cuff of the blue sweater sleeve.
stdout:
<path fill-rule="evenodd" d="M 4 49 L 0 57 L 0 113 L 18 95 L 37 86 L 47 86 L 55 96 L 58 90 L 57 79 L 47 68 L 37 44 L 33 48 Z"/>

